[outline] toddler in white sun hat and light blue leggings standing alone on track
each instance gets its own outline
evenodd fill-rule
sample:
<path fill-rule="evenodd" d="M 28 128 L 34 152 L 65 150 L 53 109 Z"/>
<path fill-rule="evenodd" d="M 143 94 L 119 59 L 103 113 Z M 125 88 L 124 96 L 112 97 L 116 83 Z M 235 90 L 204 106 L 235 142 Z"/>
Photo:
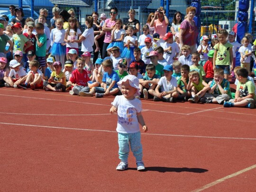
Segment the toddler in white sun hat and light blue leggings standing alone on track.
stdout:
<path fill-rule="evenodd" d="M 118 143 L 119 159 L 121 162 L 117 170 L 123 171 L 128 168 L 128 154 L 131 148 L 136 158 L 137 170 L 145 169 L 142 160 L 142 144 L 139 124 L 142 125 L 144 132 L 147 132 L 147 126 L 142 116 L 141 101 L 136 98 L 140 95 L 139 80 L 134 75 L 127 75 L 118 82 L 122 95 L 115 97 L 111 103 L 110 113 L 118 113 Z"/>

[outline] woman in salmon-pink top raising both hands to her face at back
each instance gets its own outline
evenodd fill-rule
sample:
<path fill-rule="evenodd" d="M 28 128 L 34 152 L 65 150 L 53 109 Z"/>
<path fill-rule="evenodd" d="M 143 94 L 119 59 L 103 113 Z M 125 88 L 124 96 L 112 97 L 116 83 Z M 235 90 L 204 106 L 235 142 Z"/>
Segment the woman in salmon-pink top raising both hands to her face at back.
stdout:
<path fill-rule="evenodd" d="M 157 18 L 157 19 L 156 19 Z M 167 26 L 169 25 L 169 20 L 167 16 L 165 15 L 165 10 L 163 7 L 158 8 L 155 11 L 155 15 L 150 23 L 151 27 L 155 27 L 155 32 L 160 35 L 160 40 L 158 41 L 161 46 L 164 45 L 165 41 L 163 40 L 163 37 L 165 33 L 167 32 Z"/>

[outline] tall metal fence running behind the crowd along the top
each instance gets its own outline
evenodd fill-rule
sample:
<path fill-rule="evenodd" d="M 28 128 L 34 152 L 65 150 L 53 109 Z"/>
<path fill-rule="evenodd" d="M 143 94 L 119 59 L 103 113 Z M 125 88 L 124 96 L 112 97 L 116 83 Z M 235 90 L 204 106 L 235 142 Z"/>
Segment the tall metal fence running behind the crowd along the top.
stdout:
<path fill-rule="evenodd" d="M 46 8 L 49 11 L 47 19 L 50 19 L 53 17 L 52 8 L 57 4 L 61 9 L 73 8 L 83 28 L 84 18 L 91 15 L 92 11 L 97 11 L 99 14 L 106 13 L 109 16 L 110 8 L 117 7 L 119 10 L 118 17 L 126 20 L 128 19 L 128 10 L 133 8 L 137 11 L 136 18 L 142 26 L 146 24 L 149 13 L 155 12 L 157 8 L 162 6 L 167 10 L 166 15 L 171 24 L 174 13 L 180 11 L 184 17 L 185 10 L 191 6 L 192 1 L 200 2 L 200 0 L 1 0 L 0 15 L 9 14 L 9 5 L 11 4 L 17 7 L 22 6 L 26 10 L 25 17 L 37 18 L 39 9 Z M 200 8 L 201 28 L 199 30 L 201 35 L 215 33 L 219 27 L 230 31 L 236 24 L 238 0 L 201 0 Z M 248 13 L 248 21 L 251 21 L 248 25 L 250 26 L 248 31 L 254 34 L 256 33 L 254 9 L 250 8 Z"/>

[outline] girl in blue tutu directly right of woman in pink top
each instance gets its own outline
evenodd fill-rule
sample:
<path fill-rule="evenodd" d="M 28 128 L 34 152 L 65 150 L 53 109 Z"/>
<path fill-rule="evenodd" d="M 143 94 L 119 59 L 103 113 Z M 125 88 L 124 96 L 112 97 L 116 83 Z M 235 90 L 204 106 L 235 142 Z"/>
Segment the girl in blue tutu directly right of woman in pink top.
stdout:
<path fill-rule="evenodd" d="M 116 46 L 119 48 L 120 53 L 124 50 L 124 36 L 125 36 L 125 30 L 122 29 L 123 21 L 122 19 L 116 20 L 116 25 L 111 33 L 111 41 L 109 46 L 107 47 L 108 54 L 111 55 L 111 49 L 112 47 Z"/>

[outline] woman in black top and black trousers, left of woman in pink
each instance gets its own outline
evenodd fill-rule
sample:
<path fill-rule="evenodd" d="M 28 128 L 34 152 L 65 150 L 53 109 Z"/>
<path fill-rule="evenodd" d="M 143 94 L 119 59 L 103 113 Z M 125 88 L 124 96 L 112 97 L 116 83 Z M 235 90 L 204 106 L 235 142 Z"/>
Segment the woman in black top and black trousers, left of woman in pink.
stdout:
<path fill-rule="evenodd" d="M 98 43 L 99 43 L 99 47 L 100 47 L 100 51 L 101 51 L 101 58 L 102 57 L 102 50 L 103 50 L 103 44 L 104 44 L 104 39 L 105 39 L 105 32 L 102 31 L 102 28 L 100 26 L 100 22 L 98 20 L 99 18 L 99 13 L 93 11 L 92 12 L 92 18 L 93 18 L 93 25 L 92 25 L 92 28 L 93 28 L 93 31 L 94 31 L 94 37 L 97 35 L 97 34 L 101 34 L 102 33 L 102 36 L 100 37 L 100 39 L 98 39 Z M 93 45 L 93 64 L 96 62 L 97 58 L 99 57 L 99 51 L 96 51 L 95 52 L 95 49 L 96 49 L 96 45 L 94 43 Z"/>

